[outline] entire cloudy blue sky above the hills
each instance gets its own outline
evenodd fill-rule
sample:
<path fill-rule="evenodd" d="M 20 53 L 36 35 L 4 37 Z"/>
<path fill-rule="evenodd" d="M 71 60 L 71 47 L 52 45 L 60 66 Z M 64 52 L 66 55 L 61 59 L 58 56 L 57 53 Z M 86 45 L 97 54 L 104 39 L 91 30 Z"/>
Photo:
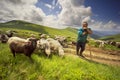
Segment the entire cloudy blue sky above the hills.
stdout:
<path fill-rule="evenodd" d="M 0 0 L 0 22 L 24 20 L 53 28 L 120 31 L 120 0 Z"/>

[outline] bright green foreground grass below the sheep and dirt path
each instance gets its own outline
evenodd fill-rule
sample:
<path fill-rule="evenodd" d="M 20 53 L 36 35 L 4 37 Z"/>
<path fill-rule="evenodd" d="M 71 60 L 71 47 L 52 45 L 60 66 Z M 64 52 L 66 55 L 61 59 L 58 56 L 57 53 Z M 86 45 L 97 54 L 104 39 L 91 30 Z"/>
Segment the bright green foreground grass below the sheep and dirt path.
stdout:
<path fill-rule="evenodd" d="M 22 54 L 13 58 L 7 44 L 0 44 L 0 50 L 0 80 L 120 80 L 120 67 L 37 52 L 31 63 Z"/>

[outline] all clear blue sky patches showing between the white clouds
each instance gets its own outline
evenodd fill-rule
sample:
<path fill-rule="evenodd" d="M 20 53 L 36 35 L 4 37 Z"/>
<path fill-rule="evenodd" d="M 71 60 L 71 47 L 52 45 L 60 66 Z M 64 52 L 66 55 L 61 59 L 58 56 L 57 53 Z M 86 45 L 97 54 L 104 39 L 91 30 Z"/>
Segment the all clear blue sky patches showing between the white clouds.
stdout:
<path fill-rule="evenodd" d="M 57 5 L 55 9 L 49 10 L 44 4 L 52 5 L 53 0 L 39 0 L 36 4 L 37 7 L 41 7 L 46 15 L 57 15 L 57 11 L 60 5 Z M 57 3 L 57 0 L 55 0 Z M 85 0 L 84 5 L 92 8 L 92 18 L 104 23 L 112 20 L 119 24 L 120 22 L 120 0 Z"/>

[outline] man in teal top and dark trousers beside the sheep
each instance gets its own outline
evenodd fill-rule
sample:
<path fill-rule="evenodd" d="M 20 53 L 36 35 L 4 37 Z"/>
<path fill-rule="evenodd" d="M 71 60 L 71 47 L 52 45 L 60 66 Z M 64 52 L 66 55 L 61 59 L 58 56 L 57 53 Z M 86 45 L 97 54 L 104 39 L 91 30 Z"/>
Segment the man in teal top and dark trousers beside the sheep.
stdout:
<path fill-rule="evenodd" d="M 88 34 L 92 34 L 92 30 L 88 28 L 87 22 L 83 22 L 82 28 L 78 30 L 78 38 L 77 38 L 77 45 L 76 45 L 77 55 L 80 55 L 82 57 L 84 57 L 82 53 L 85 50 Z"/>

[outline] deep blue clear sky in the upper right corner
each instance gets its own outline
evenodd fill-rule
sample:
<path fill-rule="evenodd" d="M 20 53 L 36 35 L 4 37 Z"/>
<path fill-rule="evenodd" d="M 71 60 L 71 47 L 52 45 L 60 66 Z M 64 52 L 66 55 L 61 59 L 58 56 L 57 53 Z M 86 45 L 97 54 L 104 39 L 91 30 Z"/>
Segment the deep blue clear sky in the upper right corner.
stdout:
<path fill-rule="evenodd" d="M 84 4 L 92 7 L 92 18 L 104 22 L 120 22 L 120 0 L 85 0 Z"/>

